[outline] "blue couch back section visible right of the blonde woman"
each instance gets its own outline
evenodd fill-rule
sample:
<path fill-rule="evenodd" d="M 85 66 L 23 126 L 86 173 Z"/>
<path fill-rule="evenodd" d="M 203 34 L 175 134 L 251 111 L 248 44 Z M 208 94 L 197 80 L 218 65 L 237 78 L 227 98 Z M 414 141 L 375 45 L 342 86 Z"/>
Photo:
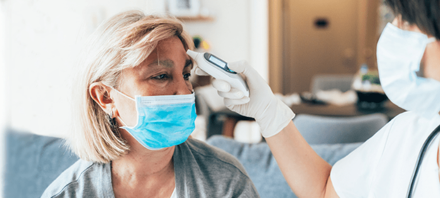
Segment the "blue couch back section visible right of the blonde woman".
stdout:
<path fill-rule="evenodd" d="M 239 159 L 261 198 L 296 198 L 265 142 L 249 144 L 223 136 L 213 136 L 207 140 L 207 143 Z M 333 165 L 360 144 L 321 144 L 311 147 L 321 158 Z"/>

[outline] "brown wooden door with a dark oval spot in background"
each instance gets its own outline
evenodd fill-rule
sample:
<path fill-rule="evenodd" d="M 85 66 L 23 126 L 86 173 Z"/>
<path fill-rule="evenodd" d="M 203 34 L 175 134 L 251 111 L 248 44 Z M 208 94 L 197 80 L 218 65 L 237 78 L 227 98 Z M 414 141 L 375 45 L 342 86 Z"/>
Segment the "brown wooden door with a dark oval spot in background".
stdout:
<path fill-rule="evenodd" d="M 316 74 L 358 68 L 358 0 L 285 0 L 282 93 L 309 91 Z"/>

